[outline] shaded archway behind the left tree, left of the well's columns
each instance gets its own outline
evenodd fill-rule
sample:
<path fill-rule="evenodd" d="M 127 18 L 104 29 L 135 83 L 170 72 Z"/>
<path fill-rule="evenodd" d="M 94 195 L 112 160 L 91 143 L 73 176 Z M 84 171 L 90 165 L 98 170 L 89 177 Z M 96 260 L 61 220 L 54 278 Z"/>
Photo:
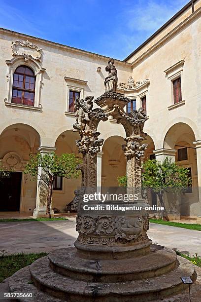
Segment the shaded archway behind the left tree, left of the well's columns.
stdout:
<path fill-rule="evenodd" d="M 79 158 L 82 154 L 78 153 L 75 140 L 80 139 L 79 132 L 67 130 L 61 133 L 55 143 L 56 154 L 74 153 Z M 81 175 L 77 179 L 58 178 L 53 187 L 52 208 L 64 212 L 67 204 L 69 204 L 74 197 L 74 190 L 81 186 Z"/>

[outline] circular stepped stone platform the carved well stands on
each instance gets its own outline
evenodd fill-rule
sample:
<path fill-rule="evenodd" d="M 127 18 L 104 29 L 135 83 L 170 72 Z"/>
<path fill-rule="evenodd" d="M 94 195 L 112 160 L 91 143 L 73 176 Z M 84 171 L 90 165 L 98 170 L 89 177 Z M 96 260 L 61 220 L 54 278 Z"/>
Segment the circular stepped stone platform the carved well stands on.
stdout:
<path fill-rule="evenodd" d="M 158 245 L 152 245 L 148 255 L 120 260 L 82 259 L 75 248 L 65 248 L 16 272 L 9 280 L 9 289 L 22 293 L 32 288 L 32 301 L 44 302 L 163 301 L 188 288 L 181 276 L 195 281 L 195 265 Z"/>

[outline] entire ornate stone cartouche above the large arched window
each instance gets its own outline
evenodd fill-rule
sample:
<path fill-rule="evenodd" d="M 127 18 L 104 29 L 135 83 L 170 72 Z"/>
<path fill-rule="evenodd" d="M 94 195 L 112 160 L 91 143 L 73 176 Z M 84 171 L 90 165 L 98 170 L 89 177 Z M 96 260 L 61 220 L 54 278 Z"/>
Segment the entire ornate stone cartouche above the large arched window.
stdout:
<path fill-rule="evenodd" d="M 42 49 L 29 40 L 12 41 L 11 48 L 13 57 L 21 56 L 24 58 L 25 63 L 28 63 L 30 59 L 36 60 L 38 62 L 41 61 Z"/>

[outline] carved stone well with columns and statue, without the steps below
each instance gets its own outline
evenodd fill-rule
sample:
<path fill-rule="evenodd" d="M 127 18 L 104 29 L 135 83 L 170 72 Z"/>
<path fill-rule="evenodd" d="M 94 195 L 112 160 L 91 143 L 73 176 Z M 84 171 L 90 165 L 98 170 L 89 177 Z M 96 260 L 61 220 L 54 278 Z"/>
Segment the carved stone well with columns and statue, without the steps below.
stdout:
<path fill-rule="evenodd" d="M 126 144 L 122 146 L 122 150 L 127 158 L 128 193 L 134 195 L 137 192 L 136 205 L 145 206 L 141 196 L 141 156 L 144 155 L 147 147 L 142 142 L 146 136 L 143 126 L 148 117 L 143 108 L 131 113 L 124 111 L 131 100 L 115 91 L 117 71 L 113 59 L 108 63 L 105 68 L 109 72 L 105 78 L 106 92 L 95 100 L 100 108 L 93 109 L 93 97 L 90 96 L 85 100 L 77 99 L 75 102 L 76 122 L 73 128 L 75 131 L 80 130 L 81 139 L 76 141 L 76 145 L 79 152 L 83 154 L 84 170 L 83 187 L 75 191 L 74 198 L 74 207 L 78 210 L 76 230 L 79 232 L 75 247 L 80 254 L 86 255 L 93 251 L 96 257 L 99 257 L 97 249 L 101 250 L 103 245 L 107 245 L 104 257 L 110 257 L 114 249 L 115 253 L 121 251 L 122 254 L 122 248 L 126 246 L 129 246 L 130 253 L 134 255 L 145 254 L 149 252 L 151 245 L 151 240 L 146 234 L 149 219 L 145 210 L 129 211 L 124 215 L 117 212 L 107 215 L 105 211 L 88 214 L 82 210 L 83 203 L 80 202 L 83 193 L 95 192 L 97 189 L 97 153 L 100 152 L 100 146 L 103 144 L 103 139 L 98 138 L 100 133 L 97 132 L 97 127 L 100 120 L 106 121 L 109 116 L 112 116 L 117 123 L 124 126 L 126 132 Z M 125 203 L 122 206 L 125 206 Z"/>

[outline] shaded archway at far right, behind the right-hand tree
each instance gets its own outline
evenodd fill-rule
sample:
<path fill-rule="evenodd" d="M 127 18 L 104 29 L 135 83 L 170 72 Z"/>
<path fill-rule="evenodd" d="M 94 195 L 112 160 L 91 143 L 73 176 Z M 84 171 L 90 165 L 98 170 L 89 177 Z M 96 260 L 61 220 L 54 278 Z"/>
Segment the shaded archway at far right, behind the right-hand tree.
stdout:
<path fill-rule="evenodd" d="M 176 150 L 175 161 L 179 166 L 189 170 L 192 186 L 182 196 L 181 215 L 197 216 L 198 213 L 198 170 L 195 142 L 192 128 L 185 123 L 176 123 L 167 131 L 164 139 L 164 148 Z"/>

